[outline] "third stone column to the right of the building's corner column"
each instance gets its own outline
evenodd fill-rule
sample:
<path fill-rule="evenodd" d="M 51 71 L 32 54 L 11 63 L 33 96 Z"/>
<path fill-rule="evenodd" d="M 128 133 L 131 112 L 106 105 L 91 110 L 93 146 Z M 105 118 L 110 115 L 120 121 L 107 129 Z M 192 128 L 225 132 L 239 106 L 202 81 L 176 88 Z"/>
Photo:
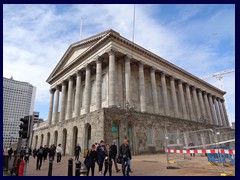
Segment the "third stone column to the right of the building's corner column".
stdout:
<path fill-rule="evenodd" d="M 152 85 L 152 93 L 153 93 L 154 113 L 159 114 L 157 84 L 156 84 L 156 76 L 155 76 L 155 69 L 154 68 L 151 68 L 151 85 Z"/>

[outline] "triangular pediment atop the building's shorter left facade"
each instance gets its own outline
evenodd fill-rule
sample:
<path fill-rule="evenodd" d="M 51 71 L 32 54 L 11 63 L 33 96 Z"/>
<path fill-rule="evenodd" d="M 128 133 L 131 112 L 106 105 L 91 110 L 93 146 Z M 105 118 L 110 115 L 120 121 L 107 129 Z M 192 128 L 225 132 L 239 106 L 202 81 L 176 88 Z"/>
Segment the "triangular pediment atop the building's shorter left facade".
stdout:
<path fill-rule="evenodd" d="M 92 46 L 94 46 L 97 42 L 99 42 L 102 38 L 104 38 L 105 35 L 107 35 L 109 32 L 113 30 L 104 31 L 100 34 L 94 35 L 90 38 L 84 39 L 82 41 L 76 42 L 69 46 L 67 51 L 64 53 L 63 57 L 57 64 L 57 66 L 54 68 L 52 73 L 47 79 L 47 82 L 57 75 L 59 72 L 67 68 L 71 63 L 76 61 L 76 59 L 81 56 L 84 52 L 86 52 L 88 49 L 90 49 Z"/>

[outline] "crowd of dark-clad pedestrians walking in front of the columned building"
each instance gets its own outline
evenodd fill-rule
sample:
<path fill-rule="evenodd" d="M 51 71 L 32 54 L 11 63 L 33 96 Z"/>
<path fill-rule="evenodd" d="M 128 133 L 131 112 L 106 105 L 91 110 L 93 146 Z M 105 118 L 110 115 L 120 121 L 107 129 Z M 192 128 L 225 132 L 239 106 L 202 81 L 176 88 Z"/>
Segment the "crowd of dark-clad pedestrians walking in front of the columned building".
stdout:
<path fill-rule="evenodd" d="M 87 176 L 91 170 L 91 175 L 94 176 L 95 164 L 98 165 L 98 172 L 100 175 L 106 176 L 107 173 L 109 176 L 112 176 L 112 165 L 116 173 L 120 172 L 121 169 L 118 167 L 118 163 L 121 164 L 123 176 L 129 176 L 131 171 L 131 151 L 129 147 L 129 140 L 124 139 L 122 145 L 119 147 L 119 153 L 117 154 L 118 147 L 116 146 L 116 141 L 113 141 L 112 144 L 106 144 L 104 140 L 101 140 L 100 143 L 92 144 L 90 150 L 88 150 L 84 163 L 87 168 Z M 7 150 L 9 159 L 11 159 L 12 154 L 16 155 L 17 150 L 13 151 L 11 147 Z M 81 147 L 79 144 L 75 147 L 75 161 L 79 161 L 79 156 L 82 153 Z M 55 156 L 57 156 L 57 163 L 61 162 L 63 154 L 63 149 L 61 144 L 58 144 L 56 147 L 54 144 L 50 146 L 40 146 L 38 149 L 22 147 L 20 150 L 20 159 L 29 162 L 29 156 L 32 156 L 36 161 L 36 170 L 40 170 L 42 166 L 42 161 L 49 160 L 54 161 Z M 117 158 L 120 159 L 117 162 Z M 104 171 L 103 171 L 104 168 Z"/>

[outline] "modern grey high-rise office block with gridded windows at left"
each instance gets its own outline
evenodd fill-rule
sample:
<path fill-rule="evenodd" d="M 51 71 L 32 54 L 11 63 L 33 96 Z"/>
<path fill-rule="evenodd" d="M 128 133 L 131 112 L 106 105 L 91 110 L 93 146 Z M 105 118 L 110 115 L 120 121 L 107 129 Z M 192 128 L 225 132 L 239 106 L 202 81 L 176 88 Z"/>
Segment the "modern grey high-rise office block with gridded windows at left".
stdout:
<path fill-rule="evenodd" d="M 32 115 L 36 87 L 3 77 L 3 146 L 16 143 L 19 137 L 20 118 Z"/>

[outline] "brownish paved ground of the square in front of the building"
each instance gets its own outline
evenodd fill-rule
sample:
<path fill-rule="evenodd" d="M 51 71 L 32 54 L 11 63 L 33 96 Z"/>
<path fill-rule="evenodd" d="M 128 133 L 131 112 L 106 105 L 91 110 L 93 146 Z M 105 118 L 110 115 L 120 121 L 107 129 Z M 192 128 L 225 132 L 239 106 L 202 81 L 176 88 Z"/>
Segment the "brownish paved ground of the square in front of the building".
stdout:
<path fill-rule="evenodd" d="M 73 158 L 74 160 L 74 157 L 63 156 L 61 162 L 57 163 L 55 157 L 52 176 L 67 176 L 69 158 Z M 84 159 L 80 157 L 80 161 L 83 160 Z M 185 159 L 181 154 L 171 154 L 169 155 L 169 160 L 173 163 L 171 166 L 179 169 L 167 169 L 165 154 L 133 156 L 131 160 L 131 169 L 133 173 L 130 173 L 130 176 L 220 176 L 223 170 L 225 172 L 231 172 L 231 176 L 235 174 L 235 166 L 229 164 L 224 167 L 220 164 L 211 165 L 207 157 L 199 154 L 192 158 L 186 155 Z M 36 161 L 37 159 L 30 157 L 30 161 L 27 163 L 26 176 L 47 176 L 49 160 L 42 162 L 41 170 L 36 170 Z M 121 169 L 120 164 L 118 164 L 118 167 Z M 114 164 L 112 166 L 112 171 L 112 176 L 122 176 L 121 171 L 116 173 Z M 73 161 L 73 175 L 75 176 L 75 161 Z M 95 176 L 100 176 L 97 164 L 95 166 Z"/>

